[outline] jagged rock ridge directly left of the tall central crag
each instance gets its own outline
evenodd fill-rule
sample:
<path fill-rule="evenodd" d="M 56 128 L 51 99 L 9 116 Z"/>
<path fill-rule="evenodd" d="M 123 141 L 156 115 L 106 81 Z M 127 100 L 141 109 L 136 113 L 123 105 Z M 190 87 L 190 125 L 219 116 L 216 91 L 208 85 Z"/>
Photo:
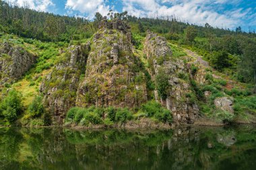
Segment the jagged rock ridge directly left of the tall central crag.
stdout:
<path fill-rule="evenodd" d="M 44 105 L 55 122 L 62 123 L 67 110 L 75 105 L 79 77 L 86 69 L 89 50 L 90 44 L 70 46 L 40 85 Z"/>

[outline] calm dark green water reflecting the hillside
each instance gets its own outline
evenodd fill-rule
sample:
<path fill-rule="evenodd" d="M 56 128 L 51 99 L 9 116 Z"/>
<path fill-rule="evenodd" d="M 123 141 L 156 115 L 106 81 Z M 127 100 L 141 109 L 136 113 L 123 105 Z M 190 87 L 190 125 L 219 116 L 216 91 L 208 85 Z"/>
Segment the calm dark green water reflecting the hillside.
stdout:
<path fill-rule="evenodd" d="M 256 169 L 256 127 L 0 128 L 0 169 Z"/>

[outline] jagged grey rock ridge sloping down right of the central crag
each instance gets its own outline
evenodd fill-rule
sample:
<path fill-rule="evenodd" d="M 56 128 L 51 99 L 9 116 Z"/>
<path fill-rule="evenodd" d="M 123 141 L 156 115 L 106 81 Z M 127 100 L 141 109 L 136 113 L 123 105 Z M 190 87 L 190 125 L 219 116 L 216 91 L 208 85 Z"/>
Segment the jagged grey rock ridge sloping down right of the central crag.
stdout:
<path fill-rule="evenodd" d="M 166 97 L 160 97 L 159 92 L 155 91 L 156 100 L 172 111 L 176 122 L 193 123 L 197 118 L 198 108 L 187 77 L 187 65 L 183 60 L 172 58 L 172 51 L 166 40 L 150 31 L 147 32 L 144 52 L 148 58 L 152 79 L 156 82 L 158 75 L 168 76 Z"/>

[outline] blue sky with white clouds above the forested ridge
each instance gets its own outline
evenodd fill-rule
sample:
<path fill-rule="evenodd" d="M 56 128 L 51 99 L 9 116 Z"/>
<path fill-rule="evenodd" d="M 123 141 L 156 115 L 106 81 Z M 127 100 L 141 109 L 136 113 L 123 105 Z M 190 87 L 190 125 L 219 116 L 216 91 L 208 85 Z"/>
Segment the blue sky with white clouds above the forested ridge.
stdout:
<path fill-rule="evenodd" d="M 96 12 L 128 11 L 137 17 L 175 16 L 183 22 L 256 30 L 256 0 L 4 0 L 37 11 L 93 19 Z"/>

